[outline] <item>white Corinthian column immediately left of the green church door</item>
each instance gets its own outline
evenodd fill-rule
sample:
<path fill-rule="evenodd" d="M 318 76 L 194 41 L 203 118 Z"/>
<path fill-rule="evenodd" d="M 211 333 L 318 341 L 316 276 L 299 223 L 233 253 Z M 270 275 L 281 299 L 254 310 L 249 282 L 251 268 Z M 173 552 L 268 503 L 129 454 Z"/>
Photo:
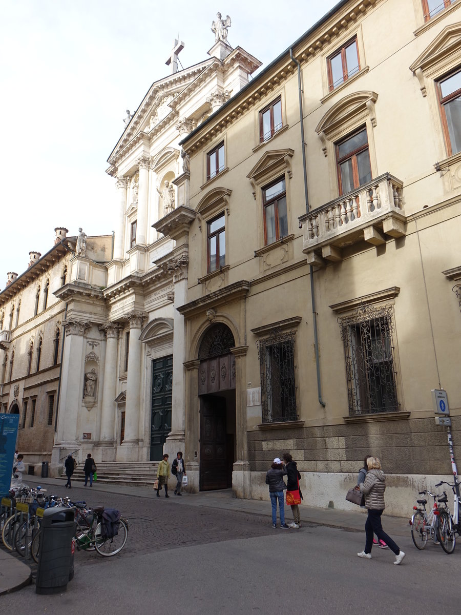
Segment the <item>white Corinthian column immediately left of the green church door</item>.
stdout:
<path fill-rule="evenodd" d="M 145 312 L 130 312 L 126 315 L 130 323 L 128 344 L 127 402 L 125 407 L 125 437 L 122 445 L 138 446 L 141 403 L 141 327 Z M 137 459 L 137 458 L 136 458 Z"/>

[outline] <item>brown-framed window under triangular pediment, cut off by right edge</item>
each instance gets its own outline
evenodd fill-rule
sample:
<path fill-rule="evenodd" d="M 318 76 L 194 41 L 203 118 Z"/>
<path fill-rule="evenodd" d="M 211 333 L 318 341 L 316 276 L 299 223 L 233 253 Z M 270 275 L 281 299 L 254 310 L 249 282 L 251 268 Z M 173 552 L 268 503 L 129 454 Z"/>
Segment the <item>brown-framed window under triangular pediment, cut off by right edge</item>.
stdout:
<path fill-rule="evenodd" d="M 461 71 L 437 84 L 443 131 L 449 156 L 461 151 Z"/>

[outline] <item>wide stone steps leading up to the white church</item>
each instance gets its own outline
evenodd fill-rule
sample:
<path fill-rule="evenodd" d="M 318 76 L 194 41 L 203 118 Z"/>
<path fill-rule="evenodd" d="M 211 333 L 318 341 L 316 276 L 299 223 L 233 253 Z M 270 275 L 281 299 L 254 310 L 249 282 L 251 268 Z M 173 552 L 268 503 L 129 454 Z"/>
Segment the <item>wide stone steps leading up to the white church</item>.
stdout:
<path fill-rule="evenodd" d="M 98 483 L 114 485 L 152 486 L 157 478 L 158 461 L 99 461 L 97 466 Z M 85 481 L 84 462 L 78 464 L 71 480 Z M 61 477 L 67 480 L 65 474 Z M 77 485 L 76 485 L 77 486 Z"/>

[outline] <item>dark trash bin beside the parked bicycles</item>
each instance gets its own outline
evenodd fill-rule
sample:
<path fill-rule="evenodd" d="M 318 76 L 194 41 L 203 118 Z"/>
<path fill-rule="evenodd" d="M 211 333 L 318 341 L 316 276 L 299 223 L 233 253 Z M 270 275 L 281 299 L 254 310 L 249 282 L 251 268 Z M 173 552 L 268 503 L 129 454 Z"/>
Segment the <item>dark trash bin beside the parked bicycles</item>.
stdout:
<path fill-rule="evenodd" d="M 74 509 L 58 506 L 45 510 L 41 525 L 36 593 L 60 593 L 73 576 L 72 541 L 76 523 Z"/>

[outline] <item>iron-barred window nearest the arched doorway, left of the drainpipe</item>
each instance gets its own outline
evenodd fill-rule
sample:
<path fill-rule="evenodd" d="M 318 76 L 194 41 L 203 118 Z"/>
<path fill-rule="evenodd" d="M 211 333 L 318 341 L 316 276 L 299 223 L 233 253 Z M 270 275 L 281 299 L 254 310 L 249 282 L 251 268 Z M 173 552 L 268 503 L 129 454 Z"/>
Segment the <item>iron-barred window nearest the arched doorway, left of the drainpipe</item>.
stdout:
<path fill-rule="evenodd" d="M 261 364 L 262 423 L 296 421 L 294 331 L 274 329 L 258 341 Z"/>

